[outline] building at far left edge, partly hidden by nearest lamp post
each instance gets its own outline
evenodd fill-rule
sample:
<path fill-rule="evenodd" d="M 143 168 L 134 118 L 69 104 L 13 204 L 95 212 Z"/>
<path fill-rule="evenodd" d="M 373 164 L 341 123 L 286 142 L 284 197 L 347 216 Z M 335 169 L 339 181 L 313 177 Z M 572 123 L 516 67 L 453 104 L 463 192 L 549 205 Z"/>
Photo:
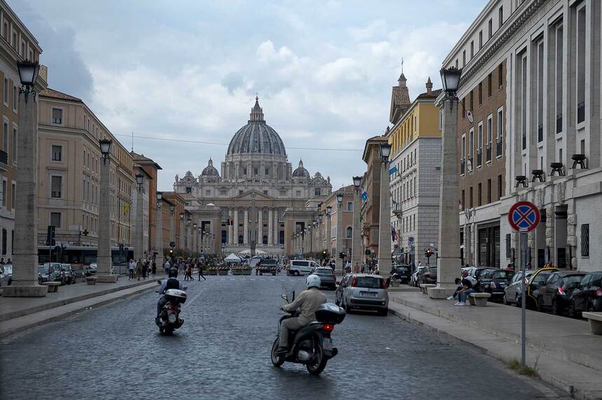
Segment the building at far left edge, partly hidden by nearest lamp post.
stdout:
<path fill-rule="evenodd" d="M 15 190 L 17 187 L 19 131 L 19 88 L 17 62 L 39 60 L 42 49 L 32 33 L 13 13 L 6 1 L 0 0 L 0 84 L 2 131 L 0 140 L 0 257 L 13 257 L 15 227 Z M 39 85 L 46 87 L 43 79 Z M 38 88 L 36 87 L 36 90 Z"/>

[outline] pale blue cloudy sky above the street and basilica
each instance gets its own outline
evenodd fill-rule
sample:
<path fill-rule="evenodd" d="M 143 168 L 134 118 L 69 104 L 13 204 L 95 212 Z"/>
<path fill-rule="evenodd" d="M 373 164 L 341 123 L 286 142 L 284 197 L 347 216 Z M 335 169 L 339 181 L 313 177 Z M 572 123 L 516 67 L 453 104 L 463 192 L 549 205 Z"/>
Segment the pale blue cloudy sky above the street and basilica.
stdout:
<path fill-rule="evenodd" d="M 387 127 L 402 57 L 411 99 L 428 76 L 440 87 L 442 59 L 486 0 L 8 3 L 43 48 L 50 87 L 83 99 L 126 148 L 132 131 L 148 137 L 134 150 L 163 167 L 161 190 L 210 157 L 219 169 L 256 93 L 293 169 L 302 158 L 336 189 Z"/>

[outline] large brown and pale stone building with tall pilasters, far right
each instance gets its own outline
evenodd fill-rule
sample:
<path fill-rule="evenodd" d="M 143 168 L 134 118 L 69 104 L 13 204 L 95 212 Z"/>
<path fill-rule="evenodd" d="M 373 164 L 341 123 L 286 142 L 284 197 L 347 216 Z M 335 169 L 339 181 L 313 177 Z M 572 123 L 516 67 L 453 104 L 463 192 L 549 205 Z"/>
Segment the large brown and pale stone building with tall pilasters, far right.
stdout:
<path fill-rule="evenodd" d="M 460 224 L 469 226 L 471 264 L 516 261 L 518 234 L 507 213 L 526 200 L 542 213 L 528 234 L 531 264 L 599 269 L 601 7 L 594 0 L 491 0 L 444 60 L 463 68 L 458 98 L 473 120 L 458 115 L 460 202 L 472 210 L 460 211 Z"/>

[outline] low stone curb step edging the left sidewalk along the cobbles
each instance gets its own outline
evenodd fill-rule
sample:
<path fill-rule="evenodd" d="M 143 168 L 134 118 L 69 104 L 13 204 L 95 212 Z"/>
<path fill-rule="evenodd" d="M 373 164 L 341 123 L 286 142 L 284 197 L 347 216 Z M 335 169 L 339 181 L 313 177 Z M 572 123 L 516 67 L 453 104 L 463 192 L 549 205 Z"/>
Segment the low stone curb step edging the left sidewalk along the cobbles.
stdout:
<path fill-rule="evenodd" d="M 9 327 L 8 329 L 4 329 L 4 330 L 0 331 L 0 339 L 4 339 L 4 338 L 7 338 L 8 336 L 18 334 L 19 332 L 25 331 L 26 329 L 31 329 L 31 328 L 38 327 L 43 324 L 48 324 L 50 322 L 62 320 L 66 317 L 69 317 L 70 315 L 80 313 L 81 311 L 87 310 L 89 308 L 100 307 L 100 306 L 104 306 L 108 303 L 111 303 L 113 301 L 127 299 L 128 297 L 132 297 L 132 296 L 135 296 L 136 294 L 146 292 L 147 290 L 155 289 L 157 286 L 156 283 L 154 283 L 154 284 L 146 283 L 146 284 L 148 285 L 148 287 L 144 287 L 144 285 L 135 285 L 134 287 L 122 288 L 123 291 L 127 291 L 127 292 L 121 293 L 121 294 L 118 293 L 118 292 L 121 292 L 121 290 L 112 290 L 111 292 L 105 293 L 102 296 L 95 296 L 95 297 L 90 297 L 88 299 L 80 300 L 81 304 L 77 304 L 80 301 L 70 301 L 69 304 L 71 305 L 72 309 L 70 309 L 68 311 L 61 312 L 60 307 L 53 307 L 53 308 L 50 308 L 50 311 L 48 313 L 44 312 L 44 311 L 48 311 L 48 310 L 39 311 L 38 313 L 42 313 L 39 318 L 36 318 L 36 313 L 29 313 L 28 315 L 22 315 L 21 317 L 18 317 L 18 318 L 24 319 L 21 323 L 19 321 L 16 321 L 16 320 L 18 320 L 18 318 L 13 318 L 12 320 L 8 320 L 8 323 L 16 322 L 16 326 Z M 105 296 L 109 296 L 109 297 L 105 298 L 105 299 L 99 299 L 100 297 L 105 297 Z M 66 304 L 66 305 L 69 305 L 69 304 Z M 44 316 L 47 314 L 55 314 L 55 315 L 48 315 L 47 317 Z M 3 325 L 4 325 L 4 327 L 6 327 L 6 322 Z"/>

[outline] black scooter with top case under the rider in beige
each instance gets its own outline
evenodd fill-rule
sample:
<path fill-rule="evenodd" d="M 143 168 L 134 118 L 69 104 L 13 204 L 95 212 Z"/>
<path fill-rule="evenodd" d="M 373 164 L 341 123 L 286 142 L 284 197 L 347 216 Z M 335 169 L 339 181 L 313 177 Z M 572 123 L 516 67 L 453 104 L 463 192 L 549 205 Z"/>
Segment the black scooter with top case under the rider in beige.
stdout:
<path fill-rule="evenodd" d="M 282 299 L 289 302 L 287 294 L 282 294 Z M 294 292 L 292 300 L 294 300 Z M 290 315 L 280 317 L 278 323 L 278 335 L 272 345 L 271 359 L 274 366 L 280 367 L 285 362 L 294 362 L 306 366 L 311 375 L 320 375 L 329 359 L 338 354 L 338 350 L 332 347 L 331 333 L 335 324 L 340 324 L 345 318 L 345 310 L 333 303 L 324 303 L 316 312 L 315 322 L 310 322 L 299 331 L 289 333 L 288 343 L 292 343 L 289 352 L 286 354 L 278 353 L 280 343 L 280 324 L 288 318 L 298 317 L 299 310 L 295 310 Z"/>

